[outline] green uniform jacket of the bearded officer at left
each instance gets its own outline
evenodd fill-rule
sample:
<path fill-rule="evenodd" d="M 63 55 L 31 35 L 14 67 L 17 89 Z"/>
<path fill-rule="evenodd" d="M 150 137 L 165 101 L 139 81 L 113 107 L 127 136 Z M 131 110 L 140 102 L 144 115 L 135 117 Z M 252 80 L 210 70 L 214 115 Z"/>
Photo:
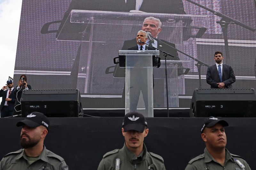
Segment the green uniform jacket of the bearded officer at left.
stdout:
<path fill-rule="evenodd" d="M 24 149 L 8 153 L 0 162 L 0 170 L 68 170 L 63 158 L 49 151 L 44 150 L 38 159 L 31 165 L 28 163 Z"/>

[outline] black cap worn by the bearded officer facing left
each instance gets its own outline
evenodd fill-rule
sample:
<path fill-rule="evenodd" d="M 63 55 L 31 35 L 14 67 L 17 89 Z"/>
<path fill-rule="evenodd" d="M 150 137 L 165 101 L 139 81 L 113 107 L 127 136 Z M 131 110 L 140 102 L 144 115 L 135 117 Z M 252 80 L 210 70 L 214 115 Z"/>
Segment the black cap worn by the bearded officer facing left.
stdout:
<path fill-rule="evenodd" d="M 42 125 L 48 129 L 49 124 L 50 124 L 49 119 L 43 113 L 32 112 L 28 114 L 24 120 L 18 122 L 16 126 L 19 127 L 19 126 L 27 125 L 31 128 L 36 128 L 37 126 Z"/>

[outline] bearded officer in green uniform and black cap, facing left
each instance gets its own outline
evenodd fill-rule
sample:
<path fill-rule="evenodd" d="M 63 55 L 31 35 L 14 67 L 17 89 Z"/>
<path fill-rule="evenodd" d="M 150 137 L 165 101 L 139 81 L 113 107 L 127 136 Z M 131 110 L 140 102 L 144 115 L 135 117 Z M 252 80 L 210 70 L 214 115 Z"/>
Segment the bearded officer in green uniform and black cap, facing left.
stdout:
<path fill-rule="evenodd" d="M 8 153 L 0 162 L 0 170 L 68 170 L 63 158 L 44 146 L 49 128 L 48 118 L 40 112 L 32 112 L 18 122 L 22 126 L 20 145 L 24 149 Z"/>

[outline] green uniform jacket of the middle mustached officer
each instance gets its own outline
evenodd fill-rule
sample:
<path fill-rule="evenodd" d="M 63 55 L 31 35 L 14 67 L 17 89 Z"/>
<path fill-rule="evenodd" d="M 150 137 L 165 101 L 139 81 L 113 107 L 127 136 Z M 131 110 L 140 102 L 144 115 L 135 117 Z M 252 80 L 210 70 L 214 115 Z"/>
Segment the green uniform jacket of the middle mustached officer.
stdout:
<path fill-rule="evenodd" d="M 120 159 L 120 170 L 165 170 L 164 159 L 148 152 L 143 143 L 143 152 L 137 157 L 125 145 L 122 149 L 107 152 L 100 161 L 98 170 L 116 170 L 116 159 Z"/>

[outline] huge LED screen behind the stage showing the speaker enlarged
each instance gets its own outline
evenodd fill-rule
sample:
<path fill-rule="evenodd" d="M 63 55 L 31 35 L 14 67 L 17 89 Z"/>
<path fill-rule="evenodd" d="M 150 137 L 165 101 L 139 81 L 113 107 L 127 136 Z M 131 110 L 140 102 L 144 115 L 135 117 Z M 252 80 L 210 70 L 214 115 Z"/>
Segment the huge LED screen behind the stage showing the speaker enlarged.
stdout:
<path fill-rule="evenodd" d="M 195 88 L 210 88 L 206 71 L 215 63 L 215 51 L 223 52 L 223 63 L 235 72 L 233 88 L 256 87 L 254 0 L 138 2 L 23 0 L 14 82 L 26 74 L 32 89 L 79 89 L 83 107 L 123 108 L 125 69 L 113 59 L 125 40 L 136 37 L 143 20 L 155 17 L 162 22 L 157 38 L 175 44 L 177 50 L 165 50 L 181 61 L 176 79 L 168 80 L 170 95 L 179 101 L 169 107 L 189 107 Z M 164 108 L 164 61 L 153 73 L 154 107 Z"/>

